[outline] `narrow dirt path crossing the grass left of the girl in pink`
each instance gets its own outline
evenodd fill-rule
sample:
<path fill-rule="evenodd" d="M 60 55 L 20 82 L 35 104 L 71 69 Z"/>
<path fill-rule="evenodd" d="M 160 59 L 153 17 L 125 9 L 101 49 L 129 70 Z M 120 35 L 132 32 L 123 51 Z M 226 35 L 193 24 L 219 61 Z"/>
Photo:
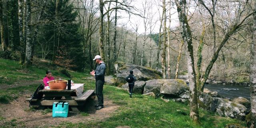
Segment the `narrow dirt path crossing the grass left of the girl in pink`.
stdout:
<path fill-rule="evenodd" d="M 40 84 L 42 83 L 42 80 L 24 80 L 24 81 L 18 81 L 15 82 L 14 84 L 2 84 L 0 85 L 0 89 L 6 89 L 6 88 L 14 88 L 18 86 L 24 86 L 24 85 L 32 85 L 32 84 Z"/>

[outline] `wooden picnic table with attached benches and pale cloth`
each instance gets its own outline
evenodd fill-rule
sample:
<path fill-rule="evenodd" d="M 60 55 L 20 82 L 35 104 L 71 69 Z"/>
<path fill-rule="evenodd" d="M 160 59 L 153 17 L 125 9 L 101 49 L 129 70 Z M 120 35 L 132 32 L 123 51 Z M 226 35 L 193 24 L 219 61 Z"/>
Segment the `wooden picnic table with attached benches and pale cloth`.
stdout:
<path fill-rule="evenodd" d="M 69 103 L 70 108 L 74 112 L 78 112 L 78 106 L 83 106 L 86 103 L 86 100 L 90 98 L 94 94 L 94 90 L 84 90 L 84 84 L 74 84 L 74 86 L 71 86 L 71 90 L 50 90 L 50 89 L 44 89 L 39 90 L 38 93 L 43 93 L 44 98 L 42 99 L 31 99 L 28 98 L 26 101 L 30 102 L 31 105 L 37 105 L 41 108 L 44 108 L 44 106 L 52 106 L 54 102 L 67 102 Z M 65 97 L 65 99 L 55 99 L 56 97 L 62 98 Z M 76 96 L 76 98 L 72 98 L 72 96 Z"/>

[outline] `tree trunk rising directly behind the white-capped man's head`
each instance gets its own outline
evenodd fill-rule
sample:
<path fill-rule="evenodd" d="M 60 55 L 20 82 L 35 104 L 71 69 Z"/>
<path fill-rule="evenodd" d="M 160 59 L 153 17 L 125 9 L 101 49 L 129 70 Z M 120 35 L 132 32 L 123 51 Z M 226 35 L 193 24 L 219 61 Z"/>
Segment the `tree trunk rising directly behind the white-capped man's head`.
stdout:
<path fill-rule="evenodd" d="M 104 2 L 102 2 L 102 0 L 100 0 L 100 28 L 99 28 L 99 35 L 100 35 L 100 39 L 99 39 L 99 46 L 100 46 L 100 56 L 102 58 L 102 60 L 104 61 L 105 59 L 105 53 L 104 53 L 104 45 L 103 45 L 103 8 L 104 8 Z"/>

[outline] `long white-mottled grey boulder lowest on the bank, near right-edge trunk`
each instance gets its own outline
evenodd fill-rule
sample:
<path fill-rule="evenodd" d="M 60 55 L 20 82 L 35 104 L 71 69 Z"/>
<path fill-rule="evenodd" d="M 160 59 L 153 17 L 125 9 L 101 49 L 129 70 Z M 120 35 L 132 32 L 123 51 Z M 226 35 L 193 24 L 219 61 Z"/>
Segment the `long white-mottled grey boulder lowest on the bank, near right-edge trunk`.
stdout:
<path fill-rule="evenodd" d="M 210 104 L 210 110 L 218 113 L 220 116 L 245 120 L 248 110 L 242 104 L 229 101 L 223 98 L 213 98 Z"/>

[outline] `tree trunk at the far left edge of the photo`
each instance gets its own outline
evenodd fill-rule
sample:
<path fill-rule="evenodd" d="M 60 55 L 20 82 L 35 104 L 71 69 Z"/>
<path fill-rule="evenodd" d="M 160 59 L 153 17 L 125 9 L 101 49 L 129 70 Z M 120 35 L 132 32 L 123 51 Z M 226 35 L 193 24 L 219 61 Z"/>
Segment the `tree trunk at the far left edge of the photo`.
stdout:
<path fill-rule="evenodd" d="M 3 0 L 0 0 L 0 33 L 1 33 L 1 43 L 2 43 L 2 50 L 5 52 L 7 51 L 7 45 L 5 42 L 4 37 L 4 21 L 3 21 Z"/>

